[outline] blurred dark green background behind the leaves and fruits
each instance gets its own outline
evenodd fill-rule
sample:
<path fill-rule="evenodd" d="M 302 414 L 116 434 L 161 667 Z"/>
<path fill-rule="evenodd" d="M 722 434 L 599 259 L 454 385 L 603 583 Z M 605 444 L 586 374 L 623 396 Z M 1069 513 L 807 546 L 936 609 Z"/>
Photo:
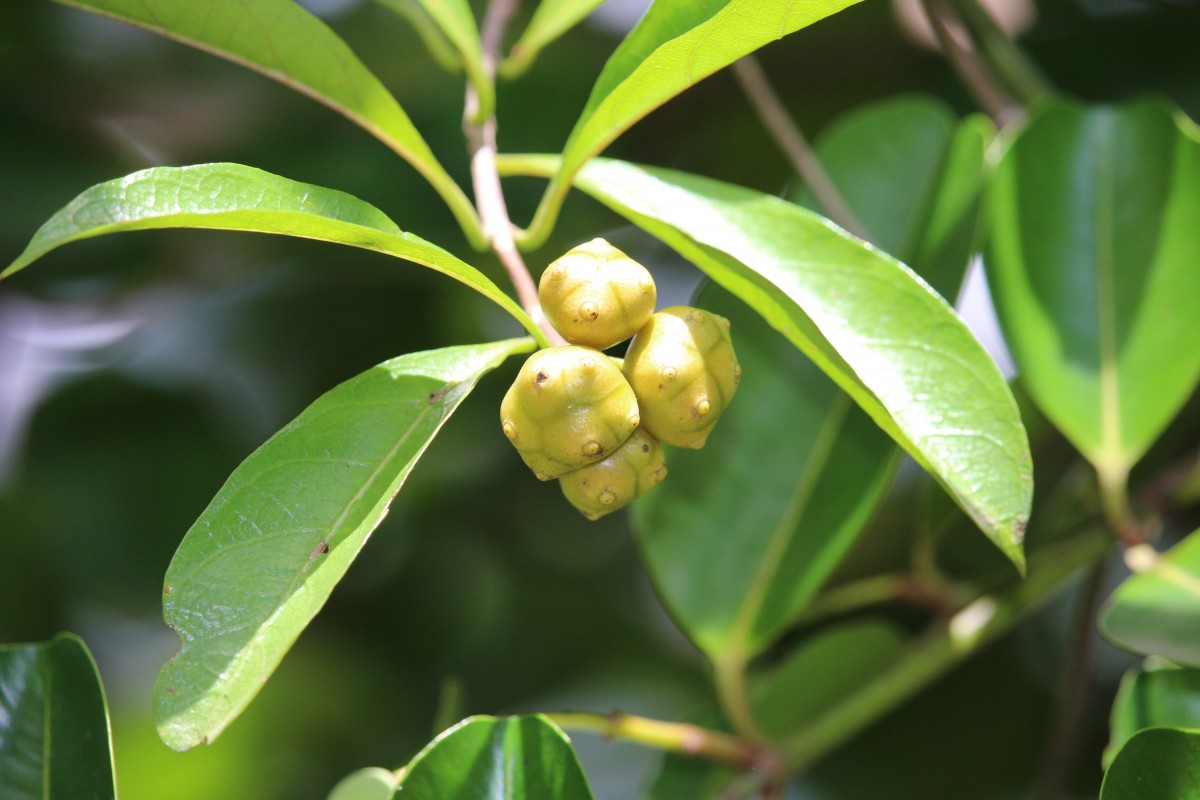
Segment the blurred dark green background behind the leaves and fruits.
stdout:
<path fill-rule="evenodd" d="M 500 88 L 503 150 L 560 146 L 619 41 L 620 5 L 630 23 L 644 6 L 614 0 L 604 24 L 581 26 L 526 78 Z M 382 7 L 312 7 L 464 181 L 461 79 L 438 71 Z M 1150 0 L 1040 2 L 1026 36 L 1068 92 L 1099 102 L 1164 94 L 1194 119 L 1198 41 L 1200 6 Z M 972 110 L 941 60 L 901 34 L 881 0 L 762 59 L 810 133 L 900 92 Z M 654 113 L 608 155 L 769 192 L 790 181 L 727 74 Z M 414 170 L 328 109 L 91 14 L 0 4 L 0 263 L 92 184 L 211 161 L 356 194 L 504 282 L 494 258 L 467 248 Z M 541 187 L 514 180 L 506 188 L 514 218 L 527 221 Z M 595 235 L 643 259 L 667 302 L 683 301 L 697 282 L 665 248 L 581 197 L 530 266 L 540 271 Z M 530 479 L 500 435 L 496 408 L 512 363 L 451 420 L 250 710 L 194 752 L 158 742 L 150 688 L 175 645 L 161 621 L 162 576 L 233 468 L 320 392 L 379 361 L 517 332 L 478 295 L 426 270 L 244 234 L 92 240 L 0 284 L 0 642 L 60 630 L 85 638 L 113 705 L 122 798 L 324 798 L 346 772 L 396 766 L 427 741 L 448 680 L 461 682 L 464 714 L 619 708 L 682 718 L 710 706 L 704 664 L 655 600 L 624 519 L 584 522 L 557 486 Z M 1066 458 L 1052 437 L 1042 446 Z M 904 513 L 893 505 L 877 515 L 857 569 L 902 554 Z M 1056 691 L 1069 600 L 826 762 L 803 796 L 1024 796 Z M 1103 703 L 1129 663 L 1104 649 L 1080 796 L 1098 782 Z M 656 760 L 586 736 L 580 746 L 601 800 L 636 796 Z"/>

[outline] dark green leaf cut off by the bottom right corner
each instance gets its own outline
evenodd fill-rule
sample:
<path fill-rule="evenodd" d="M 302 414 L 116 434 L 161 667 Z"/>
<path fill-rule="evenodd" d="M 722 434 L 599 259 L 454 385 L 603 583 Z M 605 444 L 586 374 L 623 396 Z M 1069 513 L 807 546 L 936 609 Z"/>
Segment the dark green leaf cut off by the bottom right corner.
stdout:
<path fill-rule="evenodd" d="M 1195 800 L 1200 732 L 1148 728 L 1126 744 L 1104 775 L 1100 800 Z"/>

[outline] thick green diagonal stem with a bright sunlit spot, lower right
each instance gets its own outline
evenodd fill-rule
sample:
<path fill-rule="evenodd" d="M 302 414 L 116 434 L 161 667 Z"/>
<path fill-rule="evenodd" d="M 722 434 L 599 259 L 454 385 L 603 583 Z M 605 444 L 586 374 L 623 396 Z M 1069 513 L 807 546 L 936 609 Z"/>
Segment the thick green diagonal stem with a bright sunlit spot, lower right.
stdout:
<path fill-rule="evenodd" d="M 781 742 L 787 774 L 806 768 L 1008 631 L 1075 570 L 1103 558 L 1111 545 L 1106 531 L 1094 529 L 1048 548 L 1031 564 L 1027 578 L 984 595 L 936 624 L 890 669 Z"/>

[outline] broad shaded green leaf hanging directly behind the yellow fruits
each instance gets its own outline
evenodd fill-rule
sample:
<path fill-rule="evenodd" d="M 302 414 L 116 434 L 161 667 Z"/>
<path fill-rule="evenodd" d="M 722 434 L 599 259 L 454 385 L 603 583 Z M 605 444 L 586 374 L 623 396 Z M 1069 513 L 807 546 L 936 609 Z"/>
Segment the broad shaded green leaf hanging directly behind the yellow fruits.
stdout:
<path fill-rule="evenodd" d="M 898 451 L 745 303 L 709 284 L 696 305 L 730 319 L 742 383 L 703 450 L 671 452 L 671 480 L 634 506 L 634 528 L 700 648 L 752 654 L 838 566 Z"/>

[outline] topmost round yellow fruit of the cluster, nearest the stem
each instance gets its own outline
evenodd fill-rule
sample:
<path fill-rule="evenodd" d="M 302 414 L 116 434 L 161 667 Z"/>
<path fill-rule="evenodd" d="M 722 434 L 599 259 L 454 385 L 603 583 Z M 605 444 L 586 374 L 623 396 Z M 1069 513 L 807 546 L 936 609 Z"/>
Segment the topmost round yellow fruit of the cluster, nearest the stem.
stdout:
<path fill-rule="evenodd" d="M 644 266 L 593 239 L 546 267 L 538 296 L 564 339 L 604 350 L 641 330 L 658 294 Z"/>

